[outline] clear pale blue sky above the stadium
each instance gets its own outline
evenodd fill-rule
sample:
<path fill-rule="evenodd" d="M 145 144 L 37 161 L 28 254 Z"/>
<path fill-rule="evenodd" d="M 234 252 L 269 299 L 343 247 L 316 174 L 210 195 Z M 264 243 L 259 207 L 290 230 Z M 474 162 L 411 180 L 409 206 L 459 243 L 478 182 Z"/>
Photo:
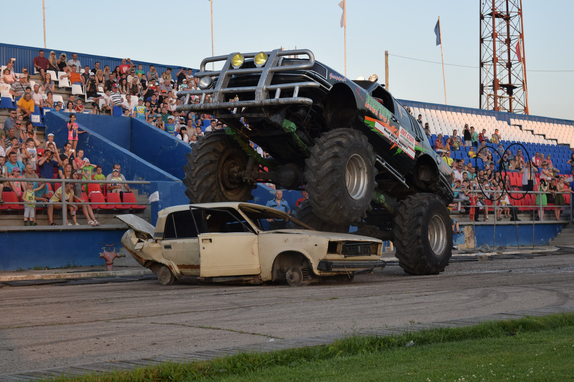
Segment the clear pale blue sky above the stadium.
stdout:
<path fill-rule="evenodd" d="M 215 55 L 307 48 L 341 73 L 339 0 L 214 0 Z M 210 2 L 164 0 L 75 2 L 45 0 L 46 43 L 56 49 L 199 68 L 211 56 Z M 6 2 L 7 44 L 43 46 L 41 1 Z M 524 0 L 526 68 L 573 70 L 574 2 Z M 347 0 L 347 76 L 385 75 L 390 54 L 440 61 L 433 28 L 441 17 L 444 62 L 478 66 L 479 1 Z M 18 17 L 22 22 L 16 21 Z M 118 37 L 113 40 L 111 37 Z M 444 103 L 440 64 L 390 57 L 389 89 L 400 99 Z M 478 107 L 478 69 L 445 66 L 451 105 Z M 574 119 L 574 72 L 528 72 L 533 115 Z"/>

